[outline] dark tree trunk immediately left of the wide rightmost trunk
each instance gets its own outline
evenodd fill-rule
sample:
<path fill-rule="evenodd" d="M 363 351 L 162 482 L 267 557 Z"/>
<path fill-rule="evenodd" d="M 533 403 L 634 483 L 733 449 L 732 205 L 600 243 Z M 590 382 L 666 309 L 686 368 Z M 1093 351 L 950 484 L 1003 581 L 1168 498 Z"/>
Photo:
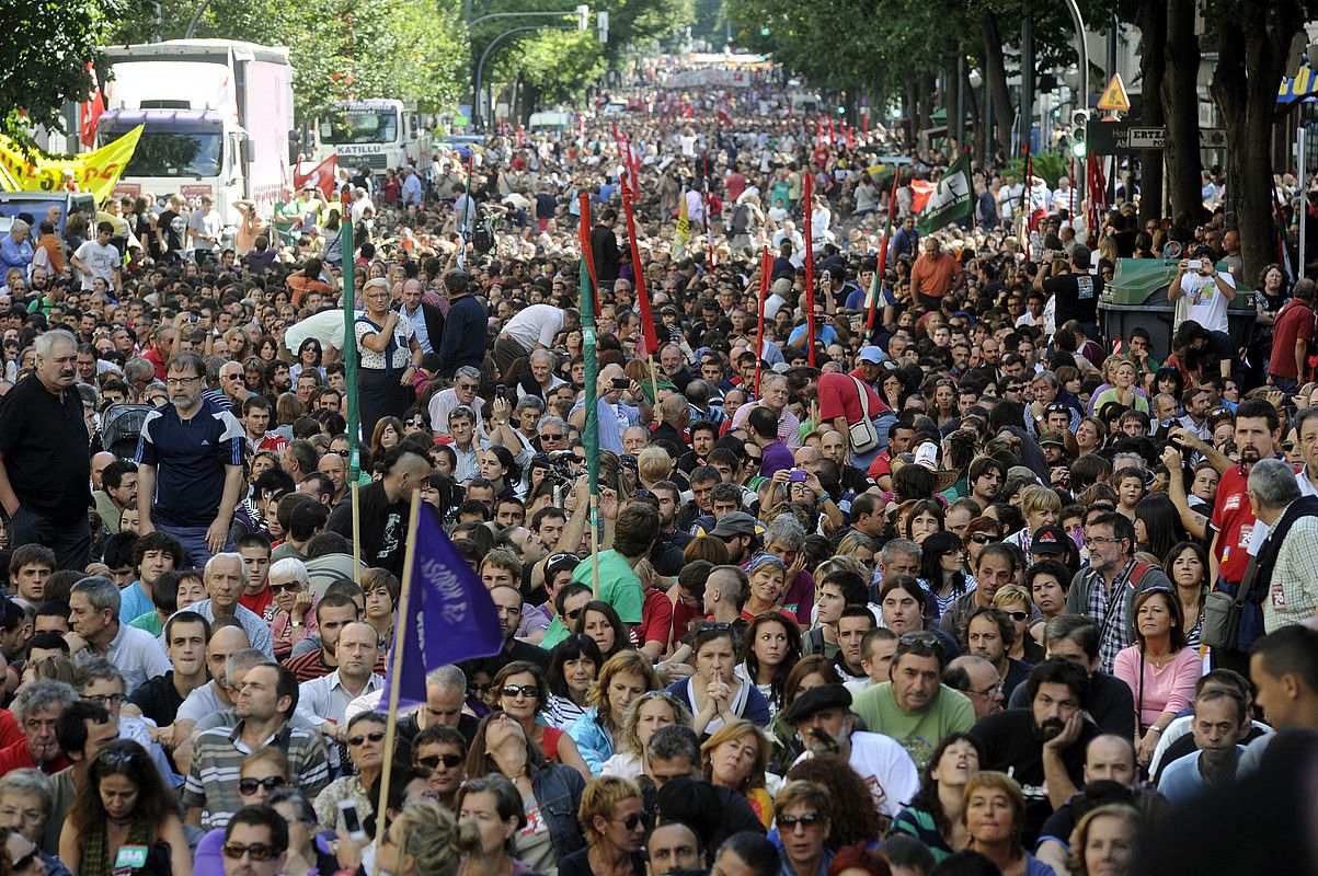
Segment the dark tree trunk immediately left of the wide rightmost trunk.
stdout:
<path fill-rule="evenodd" d="M 1199 38 L 1194 36 L 1194 5 L 1195 0 L 1166 0 L 1166 74 L 1162 78 L 1172 216 L 1189 213 L 1191 223 L 1198 221 L 1203 200 L 1199 194 Z M 1145 83 L 1145 94 L 1147 88 Z"/>

